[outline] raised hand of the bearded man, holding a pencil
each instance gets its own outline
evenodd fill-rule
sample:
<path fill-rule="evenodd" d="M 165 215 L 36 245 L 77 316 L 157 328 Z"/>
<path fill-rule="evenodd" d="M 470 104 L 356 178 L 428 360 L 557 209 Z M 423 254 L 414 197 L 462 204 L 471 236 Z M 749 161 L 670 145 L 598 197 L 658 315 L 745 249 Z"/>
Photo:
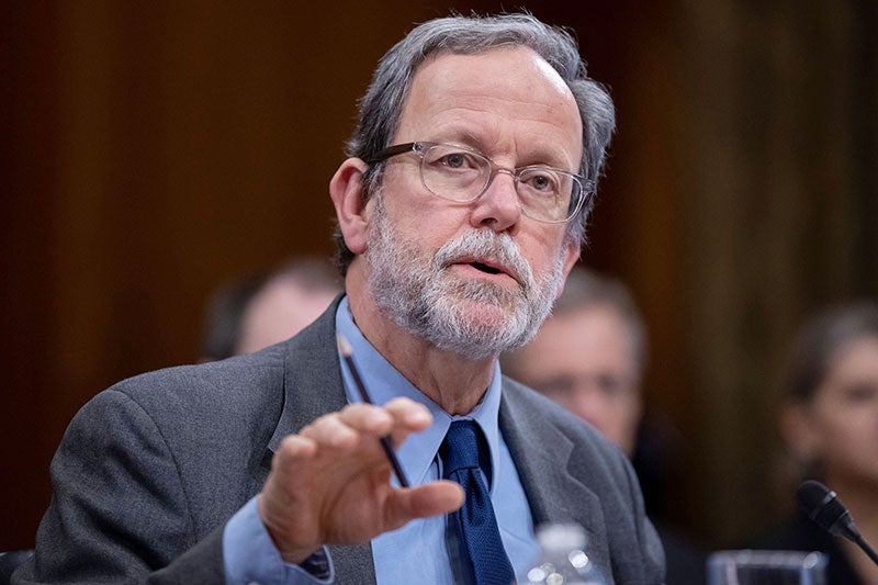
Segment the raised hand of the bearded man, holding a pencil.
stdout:
<path fill-rule="evenodd" d="M 401 445 L 430 423 L 424 406 L 395 398 L 383 407 L 348 405 L 285 437 L 257 508 L 283 559 L 301 563 L 322 544 L 365 542 L 415 518 L 458 509 L 464 496 L 454 482 L 390 485 L 379 438 L 390 435 Z"/>

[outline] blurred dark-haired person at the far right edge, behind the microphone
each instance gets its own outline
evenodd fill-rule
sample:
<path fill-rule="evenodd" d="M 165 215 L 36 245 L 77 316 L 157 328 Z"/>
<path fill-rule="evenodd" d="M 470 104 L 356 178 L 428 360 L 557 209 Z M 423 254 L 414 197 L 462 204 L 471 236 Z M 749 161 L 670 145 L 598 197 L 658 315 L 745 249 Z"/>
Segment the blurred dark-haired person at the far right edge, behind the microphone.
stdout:
<path fill-rule="evenodd" d="M 807 320 L 795 340 L 783 389 L 780 431 L 795 473 L 838 494 L 867 542 L 878 542 L 878 304 L 833 306 Z M 790 496 L 790 499 L 792 497 Z M 821 551 L 829 585 L 878 583 L 856 544 L 796 511 L 746 548 Z"/>

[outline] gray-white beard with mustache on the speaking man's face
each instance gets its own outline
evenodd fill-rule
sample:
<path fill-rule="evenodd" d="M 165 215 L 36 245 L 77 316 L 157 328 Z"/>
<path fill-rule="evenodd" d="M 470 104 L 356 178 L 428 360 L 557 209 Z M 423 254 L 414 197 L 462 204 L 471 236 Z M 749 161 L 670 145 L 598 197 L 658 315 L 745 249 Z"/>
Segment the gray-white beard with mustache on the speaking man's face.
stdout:
<path fill-rule="evenodd" d="M 381 195 L 375 196 L 365 252 L 369 286 L 379 307 L 397 325 L 439 349 L 473 360 L 496 357 L 533 338 L 552 311 L 563 278 L 563 252 L 550 272 L 534 278 L 508 234 L 483 228 L 466 232 L 428 258 L 415 241 L 395 233 Z M 463 281 L 448 272 L 455 259 L 470 256 L 499 261 L 519 288 Z M 483 313 L 491 316 L 482 317 Z"/>

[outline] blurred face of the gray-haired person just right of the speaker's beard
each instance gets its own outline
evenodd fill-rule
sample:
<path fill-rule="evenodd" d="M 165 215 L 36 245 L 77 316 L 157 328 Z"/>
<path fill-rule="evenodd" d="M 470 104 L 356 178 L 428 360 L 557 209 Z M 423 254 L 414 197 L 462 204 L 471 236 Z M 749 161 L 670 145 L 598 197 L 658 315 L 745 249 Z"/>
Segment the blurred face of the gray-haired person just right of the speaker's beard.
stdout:
<path fill-rule="evenodd" d="M 642 408 L 639 367 L 615 308 L 593 305 L 548 319 L 515 355 L 515 370 L 521 382 L 633 452 Z"/>

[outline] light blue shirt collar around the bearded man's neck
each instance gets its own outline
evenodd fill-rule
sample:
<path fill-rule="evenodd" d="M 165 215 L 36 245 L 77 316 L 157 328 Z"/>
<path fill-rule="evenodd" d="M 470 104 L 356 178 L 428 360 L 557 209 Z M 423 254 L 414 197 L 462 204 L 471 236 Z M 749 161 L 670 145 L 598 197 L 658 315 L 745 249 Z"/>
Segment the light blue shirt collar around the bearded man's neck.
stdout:
<path fill-rule="evenodd" d="M 482 401 L 466 415 L 451 416 L 438 404 L 428 398 L 417 387 L 401 374 L 384 357 L 363 337 L 353 323 L 347 296 L 341 300 L 336 311 L 336 330 L 351 345 L 352 359 L 360 371 L 363 385 L 369 391 L 369 396 L 374 404 L 383 405 L 396 396 L 406 396 L 426 406 L 432 415 L 432 425 L 424 432 L 410 435 L 405 442 L 396 449 L 399 464 L 403 466 L 409 482 L 420 485 L 431 477 L 428 475 L 430 465 L 436 459 L 439 446 L 448 432 L 453 420 L 472 419 L 481 427 L 491 450 L 492 477 L 497 476 L 499 464 L 499 427 L 497 418 L 500 406 L 500 370 L 499 363 L 494 365 L 494 375 Z M 353 379 L 347 363 L 341 359 L 341 376 L 345 382 L 345 392 L 349 403 L 362 402 L 354 389 Z M 396 484 L 394 477 L 393 483 Z"/>

